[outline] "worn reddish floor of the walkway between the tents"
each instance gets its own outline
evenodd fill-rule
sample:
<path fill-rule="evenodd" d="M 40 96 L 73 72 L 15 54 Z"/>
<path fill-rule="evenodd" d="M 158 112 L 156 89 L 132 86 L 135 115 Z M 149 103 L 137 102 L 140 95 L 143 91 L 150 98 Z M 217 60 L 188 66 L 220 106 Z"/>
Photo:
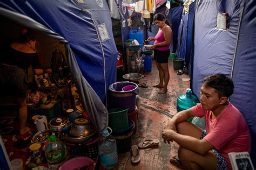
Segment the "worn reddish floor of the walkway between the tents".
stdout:
<path fill-rule="evenodd" d="M 146 83 L 148 88 L 139 87 L 141 104 L 138 113 L 138 129 L 132 136 L 132 145 L 138 145 L 144 139 L 159 139 L 159 146 L 140 150 L 138 164 L 132 164 L 130 152 L 118 154 L 119 164 L 114 169 L 180 169 L 169 162 L 171 157 L 177 155 L 177 144 L 165 144 L 161 138 L 161 130 L 176 114 L 177 97 L 186 93 L 186 88 L 190 87 L 190 81 L 183 81 L 183 79 L 189 79 L 187 75 L 177 75 L 173 70 L 172 60 L 169 60 L 169 72 L 170 81 L 166 94 L 159 95 L 159 88 L 152 87 L 159 82 L 154 60 L 152 71 L 145 73 L 145 77 L 140 80 Z"/>

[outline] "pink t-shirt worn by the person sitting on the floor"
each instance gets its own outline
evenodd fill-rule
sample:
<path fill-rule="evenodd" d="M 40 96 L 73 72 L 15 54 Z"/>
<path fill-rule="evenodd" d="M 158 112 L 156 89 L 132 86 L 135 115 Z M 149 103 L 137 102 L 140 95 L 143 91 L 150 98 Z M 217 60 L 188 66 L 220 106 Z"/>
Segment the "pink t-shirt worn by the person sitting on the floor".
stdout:
<path fill-rule="evenodd" d="M 194 116 L 205 116 L 207 135 L 215 150 L 226 159 L 228 168 L 232 169 L 228 153 L 251 152 L 251 135 L 244 116 L 229 103 L 219 116 L 212 119 L 212 111 L 204 110 L 201 104 L 192 108 Z"/>

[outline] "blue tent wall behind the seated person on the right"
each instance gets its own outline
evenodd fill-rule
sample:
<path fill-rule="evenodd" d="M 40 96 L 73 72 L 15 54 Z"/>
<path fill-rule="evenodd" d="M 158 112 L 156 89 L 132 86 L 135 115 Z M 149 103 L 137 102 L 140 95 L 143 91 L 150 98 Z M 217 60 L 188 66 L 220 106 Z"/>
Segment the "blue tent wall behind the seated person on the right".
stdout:
<path fill-rule="evenodd" d="M 217 9 L 230 16 L 230 30 L 216 28 Z M 251 158 L 256 166 L 256 1 L 196 2 L 192 90 L 199 97 L 203 78 L 213 73 L 230 76 L 230 97 L 250 128 Z M 227 122 L 228 123 L 228 122 Z"/>

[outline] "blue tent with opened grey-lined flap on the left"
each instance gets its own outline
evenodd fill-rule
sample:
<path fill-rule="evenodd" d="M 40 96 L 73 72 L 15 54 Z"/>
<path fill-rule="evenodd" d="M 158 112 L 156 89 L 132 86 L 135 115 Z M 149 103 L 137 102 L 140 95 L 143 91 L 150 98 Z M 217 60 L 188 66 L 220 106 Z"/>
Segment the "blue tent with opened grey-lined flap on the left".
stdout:
<path fill-rule="evenodd" d="M 107 1 L 5 0 L 0 15 L 65 44 L 83 107 L 98 132 L 103 130 L 108 124 L 103 103 L 116 81 L 117 61 Z"/>

